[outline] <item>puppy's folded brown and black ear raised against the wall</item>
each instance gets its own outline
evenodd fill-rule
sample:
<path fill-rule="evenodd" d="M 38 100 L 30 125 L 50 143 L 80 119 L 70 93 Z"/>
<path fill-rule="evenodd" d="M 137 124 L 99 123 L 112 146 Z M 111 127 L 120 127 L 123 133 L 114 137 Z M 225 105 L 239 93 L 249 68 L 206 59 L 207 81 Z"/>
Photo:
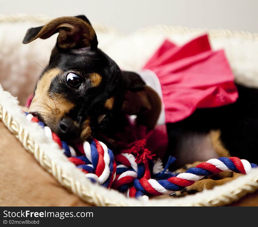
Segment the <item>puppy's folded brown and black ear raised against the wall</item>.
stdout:
<path fill-rule="evenodd" d="M 97 48 L 98 40 L 89 20 L 83 16 L 64 16 L 56 18 L 44 26 L 28 29 L 23 43 L 41 38 L 47 39 L 59 32 L 57 47 L 62 49 Z"/>

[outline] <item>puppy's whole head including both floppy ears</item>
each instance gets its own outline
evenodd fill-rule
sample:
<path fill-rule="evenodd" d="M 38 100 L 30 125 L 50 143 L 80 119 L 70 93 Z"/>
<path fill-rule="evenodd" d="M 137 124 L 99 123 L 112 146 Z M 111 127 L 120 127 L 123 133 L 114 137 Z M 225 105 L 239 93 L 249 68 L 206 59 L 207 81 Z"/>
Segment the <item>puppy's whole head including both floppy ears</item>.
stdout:
<path fill-rule="evenodd" d="M 138 123 L 149 130 L 155 127 L 161 109 L 159 96 L 138 74 L 121 71 L 98 48 L 96 33 L 85 16 L 61 17 L 30 28 L 23 43 L 57 32 L 30 113 L 70 143 L 95 136 L 103 128 L 112 138 L 126 125 L 125 114 L 137 114 Z"/>

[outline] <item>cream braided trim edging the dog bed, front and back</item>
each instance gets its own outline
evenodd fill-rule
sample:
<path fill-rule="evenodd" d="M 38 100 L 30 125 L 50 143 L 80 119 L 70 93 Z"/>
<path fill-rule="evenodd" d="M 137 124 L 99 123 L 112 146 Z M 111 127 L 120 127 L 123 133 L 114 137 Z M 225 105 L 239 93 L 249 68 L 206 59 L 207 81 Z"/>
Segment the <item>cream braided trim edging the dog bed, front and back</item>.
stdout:
<path fill-rule="evenodd" d="M 48 16 L 30 15 L 0 15 L 0 22 L 34 21 L 47 22 Z M 102 32 L 118 32 L 112 28 L 106 28 L 100 24 L 94 24 L 96 30 Z M 248 32 L 231 32 L 227 30 L 188 29 L 179 27 L 156 26 L 146 28 L 155 32 L 200 32 L 208 31 L 211 36 L 241 36 L 242 38 L 257 40 L 258 34 Z M 145 29 L 144 29 L 145 31 Z M 22 143 L 24 148 L 34 155 L 40 165 L 52 174 L 60 184 L 69 191 L 78 195 L 82 200 L 96 206 L 222 206 L 237 201 L 247 193 L 258 189 L 258 169 L 252 170 L 248 175 L 215 187 L 195 195 L 182 198 L 129 199 L 115 190 L 108 190 L 96 184 L 92 184 L 84 174 L 67 160 L 65 155 L 53 141 L 45 137 L 44 130 L 36 123 L 28 122 L 16 98 L 9 92 L 3 91 L 0 85 L 0 119 L 6 127 Z"/>

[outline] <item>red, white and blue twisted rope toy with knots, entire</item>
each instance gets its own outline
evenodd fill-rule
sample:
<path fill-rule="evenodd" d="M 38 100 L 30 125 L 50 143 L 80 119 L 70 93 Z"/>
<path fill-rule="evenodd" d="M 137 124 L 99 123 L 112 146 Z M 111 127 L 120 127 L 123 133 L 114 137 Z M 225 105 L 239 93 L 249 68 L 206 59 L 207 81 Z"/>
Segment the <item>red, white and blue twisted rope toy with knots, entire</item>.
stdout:
<path fill-rule="evenodd" d="M 175 174 L 167 171 L 175 158 L 169 157 L 163 168 L 160 160 L 152 160 L 154 155 L 145 148 L 146 140 L 137 140 L 129 144 L 130 148 L 122 150 L 117 155 L 113 155 L 104 143 L 96 139 L 72 147 L 61 141 L 49 127 L 44 126 L 32 114 L 25 114 L 29 121 L 37 122 L 44 127 L 45 135 L 64 149 L 69 161 L 80 168 L 87 178 L 104 187 L 126 192 L 128 197 L 148 198 L 149 195 L 172 194 L 214 173 L 230 171 L 247 174 L 252 168 L 257 167 L 245 159 L 220 157 L 203 162 L 184 173 Z"/>

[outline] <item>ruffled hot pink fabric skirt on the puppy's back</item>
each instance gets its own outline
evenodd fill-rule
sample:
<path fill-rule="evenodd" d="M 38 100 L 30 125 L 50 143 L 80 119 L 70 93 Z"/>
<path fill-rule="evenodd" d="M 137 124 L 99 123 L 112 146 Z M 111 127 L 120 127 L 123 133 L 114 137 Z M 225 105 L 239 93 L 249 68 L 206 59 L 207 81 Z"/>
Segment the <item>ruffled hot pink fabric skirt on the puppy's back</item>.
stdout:
<path fill-rule="evenodd" d="M 211 50 L 207 35 L 181 47 L 165 40 L 143 69 L 159 78 L 166 123 L 181 121 L 196 108 L 233 103 L 238 97 L 225 53 Z"/>

